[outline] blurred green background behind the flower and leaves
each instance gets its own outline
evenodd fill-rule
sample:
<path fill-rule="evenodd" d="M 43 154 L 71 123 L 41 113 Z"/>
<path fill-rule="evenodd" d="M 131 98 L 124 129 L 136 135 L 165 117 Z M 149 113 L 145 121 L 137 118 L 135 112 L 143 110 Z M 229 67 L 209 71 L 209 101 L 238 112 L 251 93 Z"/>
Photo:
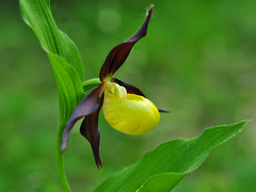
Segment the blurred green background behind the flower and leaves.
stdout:
<path fill-rule="evenodd" d="M 54 0 L 57 26 L 74 41 L 85 80 L 155 4 L 147 36 L 115 74 L 158 107 L 153 131 L 125 135 L 99 118 L 99 173 L 78 122 L 64 153 L 72 191 L 91 191 L 162 142 L 256 116 L 256 1 Z M 55 162 L 58 97 L 46 53 L 23 22 L 18 1 L 0 1 L 0 191 L 61 192 Z M 213 152 L 173 191 L 256 191 L 255 122 Z"/>

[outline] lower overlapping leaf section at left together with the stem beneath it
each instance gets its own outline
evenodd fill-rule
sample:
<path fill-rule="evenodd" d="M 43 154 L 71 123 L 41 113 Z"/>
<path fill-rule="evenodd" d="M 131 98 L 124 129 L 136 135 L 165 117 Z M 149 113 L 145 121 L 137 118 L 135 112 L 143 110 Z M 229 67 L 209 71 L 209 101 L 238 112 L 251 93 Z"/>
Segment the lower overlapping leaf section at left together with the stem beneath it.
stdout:
<path fill-rule="evenodd" d="M 81 82 L 75 69 L 63 58 L 48 53 L 52 68 L 56 78 L 59 97 L 59 124 L 56 137 L 56 160 L 58 175 L 65 192 L 70 192 L 69 184 L 66 180 L 63 167 L 63 153 L 60 152 L 61 140 L 64 128 L 67 124 L 76 105 L 85 96 Z"/>

